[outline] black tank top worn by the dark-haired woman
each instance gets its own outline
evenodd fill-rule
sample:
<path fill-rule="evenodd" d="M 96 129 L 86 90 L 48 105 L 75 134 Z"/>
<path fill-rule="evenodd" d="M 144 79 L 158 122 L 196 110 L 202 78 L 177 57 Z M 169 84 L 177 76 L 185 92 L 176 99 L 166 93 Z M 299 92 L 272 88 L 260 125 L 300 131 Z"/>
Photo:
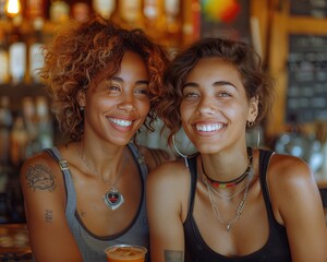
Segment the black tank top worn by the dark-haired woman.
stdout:
<path fill-rule="evenodd" d="M 191 195 L 187 217 L 184 222 L 185 262 L 291 262 L 289 242 L 286 228 L 278 224 L 272 214 L 272 206 L 268 195 L 266 172 L 272 152 L 261 150 L 259 181 L 267 209 L 269 237 L 267 242 L 257 251 L 244 255 L 228 258 L 216 253 L 204 241 L 193 218 L 195 188 L 197 181 L 196 156 L 189 160 L 191 172 Z"/>

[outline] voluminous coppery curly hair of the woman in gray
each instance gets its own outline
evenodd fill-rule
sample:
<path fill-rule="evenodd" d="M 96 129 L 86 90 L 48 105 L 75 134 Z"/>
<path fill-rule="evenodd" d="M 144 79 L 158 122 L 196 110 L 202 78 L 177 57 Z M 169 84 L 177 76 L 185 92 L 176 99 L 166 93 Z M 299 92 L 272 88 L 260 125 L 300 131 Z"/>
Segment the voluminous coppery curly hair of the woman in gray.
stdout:
<path fill-rule="evenodd" d="M 144 32 L 123 29 L 95 15 L 82 24 L 71 21 L 63 25 L 45 45 L 45 64 L 40 76 L 47 83 L 59 128 L 71 140 L 81 140 L 84 131 L 77 92 L 88 88 L 90 81 L 104 69 L 111 70 L 113 75 L 128 50 L 138 53 L 148 69 L 152 109 L 144 124 L 154 130 L 156 114 L 153 109 L 162 95 L 162 73 L 168 56 Z"/>

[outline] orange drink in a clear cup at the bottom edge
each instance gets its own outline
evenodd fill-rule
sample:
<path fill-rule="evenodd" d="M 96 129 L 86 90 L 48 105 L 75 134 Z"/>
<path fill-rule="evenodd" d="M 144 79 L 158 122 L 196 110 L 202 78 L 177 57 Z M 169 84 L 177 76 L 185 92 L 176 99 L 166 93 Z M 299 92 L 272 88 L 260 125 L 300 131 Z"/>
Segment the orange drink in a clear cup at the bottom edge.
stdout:
<path fill-rule="evenodd" d="M 116 245 L 105 250 L 107 262 L 144 262 L 147 249 L 134 245 Z"/>

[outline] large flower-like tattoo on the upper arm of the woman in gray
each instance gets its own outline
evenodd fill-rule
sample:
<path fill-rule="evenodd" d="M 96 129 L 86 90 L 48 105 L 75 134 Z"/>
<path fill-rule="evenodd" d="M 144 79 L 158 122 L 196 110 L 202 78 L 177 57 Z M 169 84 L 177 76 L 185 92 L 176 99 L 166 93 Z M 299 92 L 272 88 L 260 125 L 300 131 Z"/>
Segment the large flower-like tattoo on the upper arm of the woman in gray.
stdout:
<path fill-rule="evenodd" d="M 55 176 L 45 165 L 29 166 L 26 171 L 27 188 L 53 191 Z"/>

